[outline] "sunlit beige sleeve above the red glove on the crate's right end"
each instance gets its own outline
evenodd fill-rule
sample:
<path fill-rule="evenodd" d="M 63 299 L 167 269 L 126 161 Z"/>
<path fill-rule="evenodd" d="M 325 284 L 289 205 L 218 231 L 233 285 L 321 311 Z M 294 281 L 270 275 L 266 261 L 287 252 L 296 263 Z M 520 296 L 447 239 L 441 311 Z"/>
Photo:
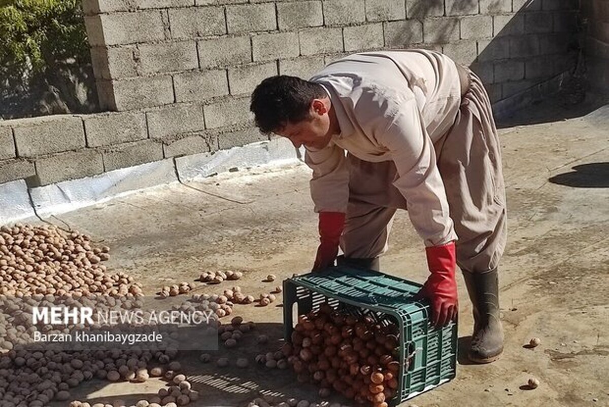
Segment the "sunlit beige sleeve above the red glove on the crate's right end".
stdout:
<path fill-rule="evenodd" d="M 457 235 L 449 216 L 434 145 L 414 99 L 400 102 L 392 111 L 375 133 L 395 162 L 397 175 L 393 185 L 406 198 L 410 221 L 425 246 L 445 245 L 456 240 Z"/>

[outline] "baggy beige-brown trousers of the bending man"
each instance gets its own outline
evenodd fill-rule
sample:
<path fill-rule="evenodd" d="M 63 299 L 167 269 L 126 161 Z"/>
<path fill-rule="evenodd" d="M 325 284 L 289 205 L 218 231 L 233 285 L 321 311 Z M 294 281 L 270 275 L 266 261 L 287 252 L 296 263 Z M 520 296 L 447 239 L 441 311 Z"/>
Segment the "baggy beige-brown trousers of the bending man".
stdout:
<path fill-rule="evenodd" d="M 507 237 L 501 146 L 488 94 L 473 73 L 451 129 L 435 142 L 457 240 L 457 264 L 483 273 L 496 268 Z M 347 222 L 340 246 L 345 257 L 377 257 L 387 251 L 396 209 L 407 209 L 392 183 L 392 161 L 367 162 L 348 155 Z"/>

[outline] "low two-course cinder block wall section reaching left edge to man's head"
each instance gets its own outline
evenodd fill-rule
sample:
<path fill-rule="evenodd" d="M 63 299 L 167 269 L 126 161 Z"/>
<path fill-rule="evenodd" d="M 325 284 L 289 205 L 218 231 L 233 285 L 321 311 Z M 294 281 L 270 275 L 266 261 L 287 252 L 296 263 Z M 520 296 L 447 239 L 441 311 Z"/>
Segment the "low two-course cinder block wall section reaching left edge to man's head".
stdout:
<path fill-rule="evenodd" d="M 44 186 L 68 179 L 217 151 L 267 139 L 237 123 L 245 99 L 209 108 L 182 103 L 147 111 L 55 115 L 0 121 L 0 184 Z M 208 130 L 205 128 L 208 124 Z M 220 133 L 217 128 L 222 128 Z"/>

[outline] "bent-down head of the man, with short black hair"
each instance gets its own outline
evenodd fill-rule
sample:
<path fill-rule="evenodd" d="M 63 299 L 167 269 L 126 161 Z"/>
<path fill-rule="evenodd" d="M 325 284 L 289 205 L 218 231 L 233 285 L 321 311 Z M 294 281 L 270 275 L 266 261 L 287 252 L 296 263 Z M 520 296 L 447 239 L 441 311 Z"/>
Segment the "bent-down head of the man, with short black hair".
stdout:
<path fill-rule="evenodd" d="M 287 75 L 263 80 L 250 104 L 262 133 L 287 137 L 295 147 L 313 148 L 325 147 L 337 130 L 331 108 L 321 85 Z"/>

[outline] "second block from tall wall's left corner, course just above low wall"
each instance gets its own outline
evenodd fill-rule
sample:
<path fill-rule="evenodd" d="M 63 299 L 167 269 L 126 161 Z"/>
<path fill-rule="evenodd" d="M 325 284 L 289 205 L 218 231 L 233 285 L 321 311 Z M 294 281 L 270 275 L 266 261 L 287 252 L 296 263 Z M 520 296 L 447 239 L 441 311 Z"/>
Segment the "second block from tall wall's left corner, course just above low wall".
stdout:
<path fill-rule="evenodd" d="M 182 72 L 174 75 L 176 102 L 201 102 L 216 96 L 228 95 L 225 69 Z"/>

